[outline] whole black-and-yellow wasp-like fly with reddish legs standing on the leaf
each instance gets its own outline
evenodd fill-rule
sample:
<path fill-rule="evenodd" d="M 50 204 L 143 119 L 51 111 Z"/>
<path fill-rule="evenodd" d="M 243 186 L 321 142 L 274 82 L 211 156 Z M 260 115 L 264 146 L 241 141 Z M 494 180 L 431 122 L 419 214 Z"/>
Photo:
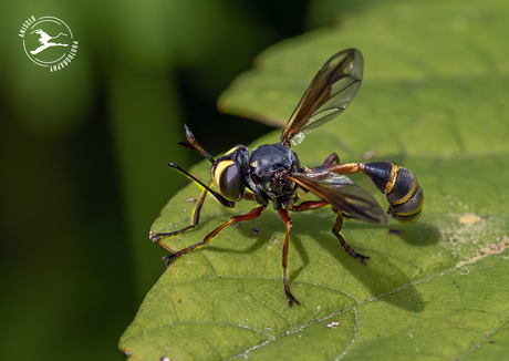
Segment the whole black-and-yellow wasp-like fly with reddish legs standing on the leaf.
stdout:
<path fill-rule="evenodd" d="M 373 224 L 386 223 L 384 210 L 376 199 L 359 185 L 355 185 L 345 174 L 362 172 L 367 175 L 380 192 L 386 195 L 389 204 L 387 214 L 402 224 L 416 221 L 422 212 L 424 193 L 415 175 L 406 168 L 389 162 L 374 163 L 340 163 L 339 156 L 331 154 L 322 165 L 315 167 L 301 166 L 297 154 L 290 148 L 291 144 L 302 142 L 305 134 L 332 121 L 350 104 L 361 86 L 363 78 L 363 56 L 356 49 L 347 49 L 332 56 L 318 72 L 305 91 L 299 105 L 288 121 L 279 143 L 264 144 L 251 152 L 243 145 L 237 145 L 225 155 L 215 159 L 195 140 L 186 128 L 187 142 L 179 143 L 205 156 L 211 163 L 211 180 L 204 184 L 196 177 L 174 163 L 168 165 L 186 174 L 204 187 L 191 225 L 172 233 L 153 234 L 153 241 L 162 237 L 176 236 L 198 225 L 199 214 L 205 197 L 210 192 L 225 207 L 235 207 L 241 199 L 254 200 L 258 206 L 245 215 L 231 217 L 200 243 L 164 257 L 166 267 L 180 256 L 207 245 L 226 226 L 239 221 L 251 220 L 260 216 L 272 202 L 287 234 L 282 248 L 282 268 L 284 293 L 288 306 L 300 305 L 290 291 L 287 277 L 290 228 L 292 220 L 290 212 L 304 212 L 332 206 L 336 214 L 333 235 L 344 249 L 362 265 L 370 257 L 363 256 L 351 248 L 341 228 L 343 218 L 357 218 Z M 210 188 L 214 184 L 214 189 Z M 315 194 L 321 200 L 299 200 L 308 192 Z M 164 246 L 163 246 L 164 247 Z"/>

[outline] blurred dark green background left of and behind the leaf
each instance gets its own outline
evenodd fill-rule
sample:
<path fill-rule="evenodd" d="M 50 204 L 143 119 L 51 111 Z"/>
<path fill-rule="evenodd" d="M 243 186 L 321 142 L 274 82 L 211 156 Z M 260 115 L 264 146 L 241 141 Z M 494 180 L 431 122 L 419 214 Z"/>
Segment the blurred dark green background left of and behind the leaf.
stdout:
<path fill-rule="evenodd" d="M 0 359 L 124 360 L 117 342 L 164 271 L 148 240 L 188 180 L 166 166 L 187 123 L 211 154 L 270 127 L 216 100 L 257 53 L 371 1 L 6 1 L 0 9 Z M 65 21 L 76 58 L 55 73 L 18 35 Z M 340 18 L 341 19 L 341 18 Z"/>

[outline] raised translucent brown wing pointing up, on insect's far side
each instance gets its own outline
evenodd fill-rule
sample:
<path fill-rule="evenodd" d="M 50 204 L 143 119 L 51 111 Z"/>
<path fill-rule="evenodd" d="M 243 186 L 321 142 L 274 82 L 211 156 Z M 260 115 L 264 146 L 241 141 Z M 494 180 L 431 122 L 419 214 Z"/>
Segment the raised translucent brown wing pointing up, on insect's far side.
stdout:
<path fill-rule="evenodd" d="M 343 113 L 359 91 L 364 60 L 356 49 L 346 49 L 323 65 L 284 126 L 280 143 L 299 144 L 304 134 Z"/>

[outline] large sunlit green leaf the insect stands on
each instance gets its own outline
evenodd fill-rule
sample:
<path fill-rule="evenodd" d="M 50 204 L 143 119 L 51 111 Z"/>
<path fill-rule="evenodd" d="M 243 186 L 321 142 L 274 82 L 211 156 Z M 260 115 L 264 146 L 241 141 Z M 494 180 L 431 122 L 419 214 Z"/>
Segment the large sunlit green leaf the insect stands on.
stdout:
<path fill-rule="evenodd" d="M 392 2 L 349 13 L 340 29 L 267 50 L 221 97 L 232 113 L 284 124 L 329 56 L 361 49 L 356 99 L 293 151 L 309 165 L 336 152 L 343 162 L 375 154 L 412 169 L 426 196 L 418 223 L 347 220 L 346 241 L 371 257 L 363 267 L 331 234 L 330 209 L 291 214 L 289 277 L 301 305 L 289 308 L 284 225 L 268 209 L 174 262 L 121 349 L 133 360 L 508 360 L 509 4 L 476 3 Z M 206 180 L 208 172 L 207 162 L 193 169 Z M 386 204 L 366 177 L 352 178 Z M 189 225 L 189 198 L 200 193 L 184 188 L 152 229 Z M 178 250 L 201 241 L 252 207 L 224 209 L 208 196 L 199 226 L 163 243 Z"/>

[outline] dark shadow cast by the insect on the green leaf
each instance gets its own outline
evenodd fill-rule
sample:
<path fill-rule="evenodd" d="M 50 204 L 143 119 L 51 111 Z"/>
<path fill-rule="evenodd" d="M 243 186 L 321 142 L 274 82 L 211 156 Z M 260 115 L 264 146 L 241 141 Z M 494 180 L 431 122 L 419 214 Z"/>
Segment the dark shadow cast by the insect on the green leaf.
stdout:
<path fill-rule="evenodd" d="M 370 254 L 370 250 L 355 246 L 355 238 L 347 238 L 346 241 L 361 254 L 371 256 L 371 259 L 367 261 L 367 267 L 361 265 L 359 260 L 352 258 L 345 252 L 339 240 L 331 233 L 334 224 L 333 213 L 329 214 L 328 210 L 315 212 L 314 215 L 311 213 L 293 213 L 291 214 L 291 217 L 293 219 L 293 227 L 290 236 L 289 258 L 291 260 L 300 259 L 300 262 L 294 262 L 300 265 L 294 268 L 290 268 L 290 286 L 292 282 L 299 282 L 302 272 L 311 264 L 309 249 L 305 245 L 309 244 L 308 239 L 312 239 L 321 247 L 321 249 L 332 256 L 332 258 L 350 275 L 363 283 L 370 290 L 370 293 L 373 295 L 372 298 L 380 297 L 380 299 L 385 302 L 389 302 L 398 308 L 412 312 L 420 312 L 424 310 L 425 303 L 423 298 L 415 287 L 411 285 L 412 280 L 406 276 L 402 266 L 394 264 L 394 258 L 387 258 L 385 254 L 381 251 Z M 256 235 L 253 235 L 252 230 L 254 226 L 260 228 Z M 362 235 L 362 231 L 376 231 L 377 229 L 384 229 L 380 226 L 356 220 L 349 221 L 346 227 L 349 230 L 359 229 L 360 237 L 366 237 L 365 235 Z M 207 250 L 222 254 L 250 255 L 257 252 L 270 243 L 279 244 L 279 246 L 282 247 L 284 241 L 284 238 L 276 239 L 273 237 L 276 233 L 284 234 L 284 224 L 276 214 L 267 214 L 262 219 L 256 221 L 241 223 L 235 228 L 235 231 L 239 234 L 239 240 L 245 241 L 245 239 L 252 239 L 253 243 L 243 249 L 217 247 L 209 244 L 206 247 Z M 423 237 L 424 234 L 425 239 L 430 240 L 433 240 L 434 237 L 436 238 L 437 235 L 435 229 L 429 226 L 419 227 L 419 229 L 413 231 L 412 234 L 416 235 L 416 237 Z M 403 264 L 405 262 L 403 261 Z M 334 277 L 334 275 L 330 275 L 330 277 Z M 326 282 L 326 278 L 321 281 Z M 406 297 L 404 300 L 395 296 L 399 292 L 405 293 Z"/>

